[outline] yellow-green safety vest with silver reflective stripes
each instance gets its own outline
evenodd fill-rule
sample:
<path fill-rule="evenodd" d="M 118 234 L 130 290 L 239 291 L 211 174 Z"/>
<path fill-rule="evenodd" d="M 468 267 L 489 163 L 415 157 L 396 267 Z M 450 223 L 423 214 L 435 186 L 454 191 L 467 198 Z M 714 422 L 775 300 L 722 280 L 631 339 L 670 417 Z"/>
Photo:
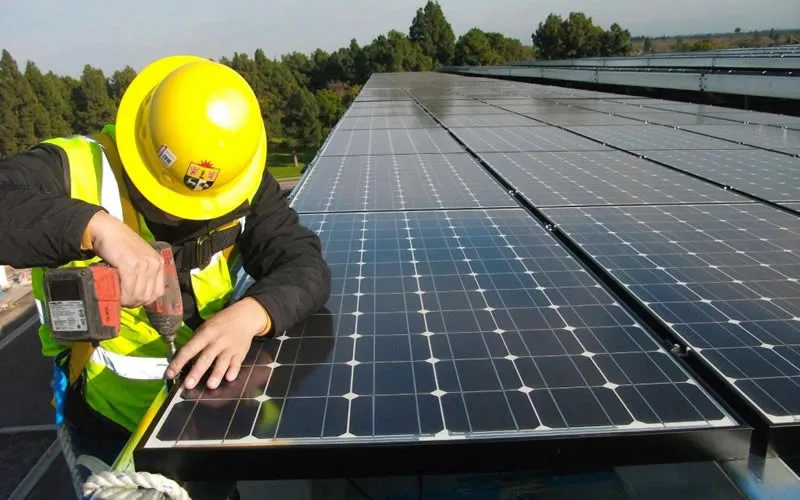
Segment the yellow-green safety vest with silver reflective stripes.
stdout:
<path fill-rule="evenodd" d="M 154 240 L 144 218 L 130 203 L 114 143 L 113 125 L 92 137 L 76 135 L 44 142 L 59 146 L 66 153 L 72 198 L 104 207 L 146 241 Z M 244 219 L 238 223 L 244 227 Z M 99 260 L 73 261 L 62 267 L 83 267 Z M 216 252 L 205 268 L 191 270 L 192 292 L 203 319 L 210 318 L 227 304 L 235 277 L 241 270 L 239 260 L 234 245 Z M 31 270 L 33 295 L 41 322 L 42 353 L 55 357 L 69 349 L 69 383 L 83 375 L 87 404 L 133 432 L 164 386 L 167 344 L 150 326 L 142 307 L 123 308 L 119 335 L 96 347 L 87 342 L 69 345 L 56 342 L 46 321 L 42 286 L 46 271 L 46 268 Z M 182 325 L 176 336 L 176 347 L 185 344 L 192 333 L 188 326 Z"/>

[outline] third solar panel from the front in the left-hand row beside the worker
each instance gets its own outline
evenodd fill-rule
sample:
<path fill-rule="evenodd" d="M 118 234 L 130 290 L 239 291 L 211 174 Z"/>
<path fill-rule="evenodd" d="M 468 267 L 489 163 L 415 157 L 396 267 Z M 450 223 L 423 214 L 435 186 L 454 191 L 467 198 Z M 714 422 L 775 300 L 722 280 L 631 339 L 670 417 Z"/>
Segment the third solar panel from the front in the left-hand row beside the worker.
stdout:
<path fill-rule="evenodd" d="M 341 130 L 334 134 L 325 156 L 462 153 L 463 148 L 444 129 Z"/>

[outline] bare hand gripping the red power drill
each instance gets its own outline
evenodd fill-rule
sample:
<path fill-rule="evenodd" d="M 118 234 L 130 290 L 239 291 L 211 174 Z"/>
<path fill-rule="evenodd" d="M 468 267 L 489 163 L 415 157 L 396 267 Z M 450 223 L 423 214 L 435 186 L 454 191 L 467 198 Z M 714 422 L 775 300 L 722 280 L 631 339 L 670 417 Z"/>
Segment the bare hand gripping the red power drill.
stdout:
<path fill-rule="evenodd" d="M 87 226 L 92 251 L 117 269 L 123 307 L 139 307 L 164 295 L 164 260 L 116 217 L 98 212 Z"/>

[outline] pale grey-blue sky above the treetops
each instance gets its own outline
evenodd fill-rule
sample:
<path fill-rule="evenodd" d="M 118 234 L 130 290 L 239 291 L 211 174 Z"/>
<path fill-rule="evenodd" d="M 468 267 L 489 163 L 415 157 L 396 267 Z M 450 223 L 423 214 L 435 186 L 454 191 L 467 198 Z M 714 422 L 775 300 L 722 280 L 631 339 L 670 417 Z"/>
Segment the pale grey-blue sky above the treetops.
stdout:
<path fill-rule="evenodd" d="M 270 57 L 317 47 L 361 44 L 390 29 L 407 32 L 425 0 L 56 0 L 10 1 L 0 16 L 0 47 L 22 66 L 77 75 L 86 63 L 104 71 L 174 53 Z M 550 12 L 583 11 L 607 27 L 637 34 L 676 34 L 800 27 L 798 0 L 440 0 L 458 36 L 469 28 L 499 31 L 530 43 Z M 81 10 L 79 5 L 85 6 Z"/>

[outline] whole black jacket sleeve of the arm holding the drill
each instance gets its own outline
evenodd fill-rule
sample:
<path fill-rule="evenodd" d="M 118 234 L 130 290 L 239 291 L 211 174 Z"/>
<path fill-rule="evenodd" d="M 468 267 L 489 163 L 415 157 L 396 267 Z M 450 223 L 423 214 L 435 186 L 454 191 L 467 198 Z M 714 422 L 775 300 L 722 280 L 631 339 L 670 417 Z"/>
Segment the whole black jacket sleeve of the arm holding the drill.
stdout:
<path fill-rule="evenodd" d="M 55 267 L 86 258 L 81 238 L 102 207 L 70 198 L 63 150 L 42 144 L 0 160 L 0 264 Z"/>

